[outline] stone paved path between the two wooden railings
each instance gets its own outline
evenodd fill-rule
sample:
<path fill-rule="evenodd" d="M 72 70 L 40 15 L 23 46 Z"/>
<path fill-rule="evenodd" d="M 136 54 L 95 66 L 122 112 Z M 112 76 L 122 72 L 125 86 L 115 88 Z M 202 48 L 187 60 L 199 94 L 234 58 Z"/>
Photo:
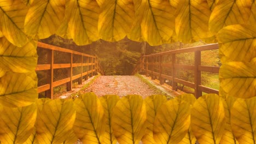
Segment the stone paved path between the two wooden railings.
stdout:
<path fill-rule="evenodd" d="M 158 94 L 137 76 L 100 76 L 83 92 L 94 92 L 98 97 L 106 94 L 117 94 L 120 97 L 138 94 L 145 98 Z"/>

